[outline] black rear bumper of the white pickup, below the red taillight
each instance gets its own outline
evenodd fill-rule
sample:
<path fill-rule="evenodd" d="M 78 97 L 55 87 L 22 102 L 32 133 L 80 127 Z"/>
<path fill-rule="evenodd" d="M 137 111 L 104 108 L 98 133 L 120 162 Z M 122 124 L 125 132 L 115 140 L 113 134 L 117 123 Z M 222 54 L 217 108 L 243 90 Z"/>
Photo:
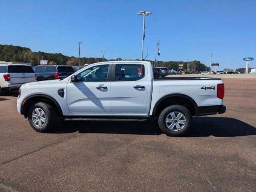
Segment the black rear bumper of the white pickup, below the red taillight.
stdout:
<path fill-rule="evenodd" d="M 204 116 L 204 115 L 214 115 L 214 114 L 222 114 L 226 112 L 226 107 L 224 105 L 213 105 L 213 106 L 202 106 L 195 107 L 196 116 Z"/>

